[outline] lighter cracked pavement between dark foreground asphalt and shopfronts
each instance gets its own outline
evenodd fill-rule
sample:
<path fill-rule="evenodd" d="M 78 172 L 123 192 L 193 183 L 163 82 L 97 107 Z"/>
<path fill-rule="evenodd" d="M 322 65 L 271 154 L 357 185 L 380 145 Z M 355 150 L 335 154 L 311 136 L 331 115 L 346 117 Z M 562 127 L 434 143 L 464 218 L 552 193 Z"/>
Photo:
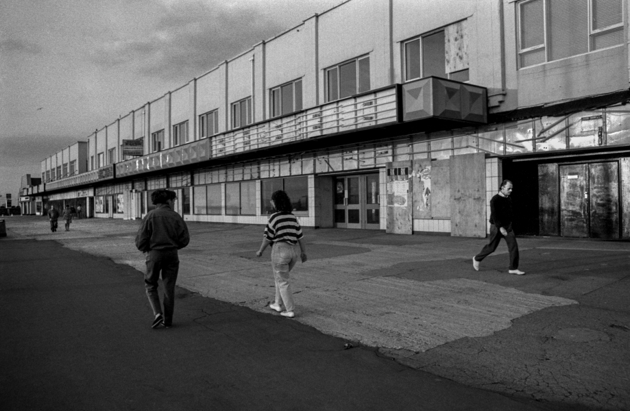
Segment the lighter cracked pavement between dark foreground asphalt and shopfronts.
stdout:
<path fill-rule="evenodd" d="M 80 219 L 56 233 L 43 217 L 5 221 L 0 247 L 54 240 L 144 270 L 134 247 L 139 221 Z M 268 307 L 269 251 L 255 256 L 263 227 L 189 229 L 178 279 L 189 292 L 518 403 L 630 410 L 629 242 L 518 238 L 527 274 L 516 276 L 505 244 L 472 269 L 483 239 L 304 229 L 308 261 L 292 271 L 296 317 L 284 319 Z"/>

